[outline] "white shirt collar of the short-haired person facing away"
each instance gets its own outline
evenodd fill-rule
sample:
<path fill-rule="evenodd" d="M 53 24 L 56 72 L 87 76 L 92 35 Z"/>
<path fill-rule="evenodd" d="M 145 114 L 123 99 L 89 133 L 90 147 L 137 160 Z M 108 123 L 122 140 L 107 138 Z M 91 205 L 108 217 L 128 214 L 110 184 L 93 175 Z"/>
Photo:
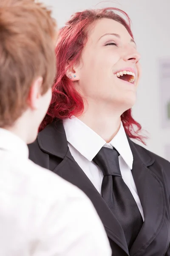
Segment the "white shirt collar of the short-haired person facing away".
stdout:
<path fill-rule="evenodd" d="M 17 135 L 12 132 L 0 128 L 0 150 L 11 152 L 12 154 L 20 155 L 20 157 L 28 158 L 28 146 Z"/>

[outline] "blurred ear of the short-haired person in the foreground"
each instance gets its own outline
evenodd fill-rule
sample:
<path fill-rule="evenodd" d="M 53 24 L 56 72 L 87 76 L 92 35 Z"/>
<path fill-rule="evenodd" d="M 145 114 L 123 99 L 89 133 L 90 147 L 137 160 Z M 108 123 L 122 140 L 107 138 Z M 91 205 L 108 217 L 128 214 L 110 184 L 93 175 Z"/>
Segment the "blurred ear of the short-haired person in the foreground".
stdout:
<path fill-rule="evenodd" d="M 28 106 L 32 110 L 37 110 L 40 105 L 40 98 L 42 96 L 42 76 L 37 77 L 31 84 L 31 88 L 28 94 Z"/>

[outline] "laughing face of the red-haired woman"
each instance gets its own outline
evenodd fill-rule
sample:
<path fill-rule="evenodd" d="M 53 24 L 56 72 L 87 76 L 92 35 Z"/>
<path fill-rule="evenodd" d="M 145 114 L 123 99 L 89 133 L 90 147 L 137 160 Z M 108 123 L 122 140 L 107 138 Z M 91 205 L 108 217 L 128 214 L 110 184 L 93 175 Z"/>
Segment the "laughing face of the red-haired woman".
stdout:
<path fill-rule="evenodd" d="M 88 29 L 81 60 L 74 67 L 76 88 L 88 102 L 126 111 L 136 100 L 140 55 L 127 29 L 115 20 L 97 20 Z"/>

